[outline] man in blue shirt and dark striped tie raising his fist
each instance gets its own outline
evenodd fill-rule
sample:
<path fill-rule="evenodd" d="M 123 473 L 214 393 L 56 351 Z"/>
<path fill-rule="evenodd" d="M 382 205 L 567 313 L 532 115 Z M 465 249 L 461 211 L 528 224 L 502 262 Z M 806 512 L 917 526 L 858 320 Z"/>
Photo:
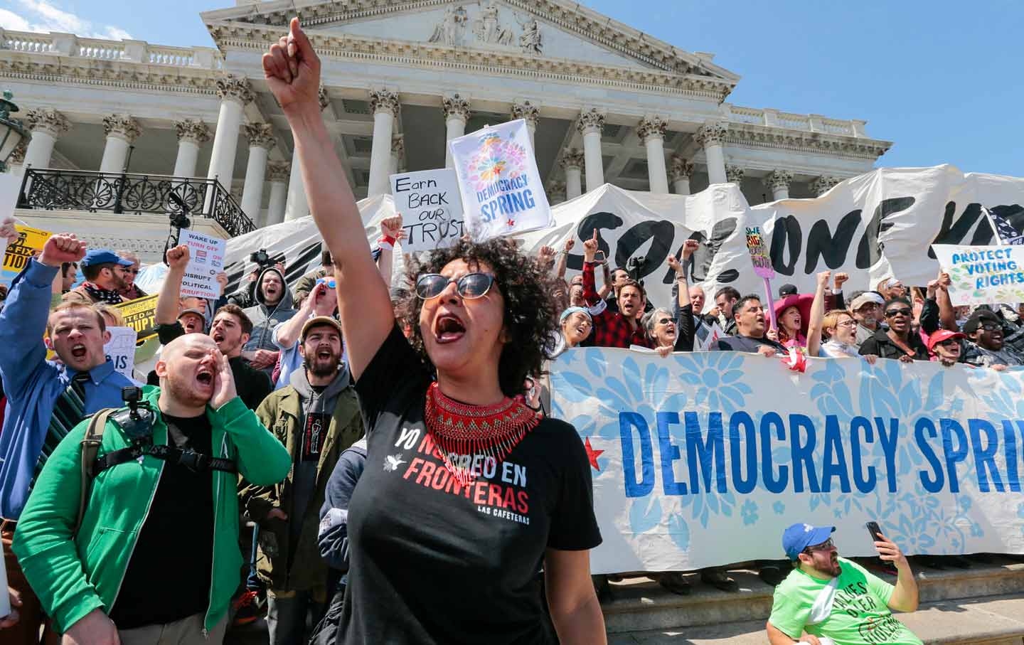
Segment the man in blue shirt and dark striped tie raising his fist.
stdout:
<path fill-rule="evenodd" d="M 43 620 L 39 600 L 10 552 L 32 483 L 76 424 L 97 410 L 120 407 L 121 388 L 132 385 L 106 359 L 103 344 L 110 334 L 91 305 L 68 302 L 49 310 L 60 264 L 81 261 L 85 250 L 75 235 L 51 236 L 42 254 L 14 278 L 0 311 L 0 376 L 7 393 L 0 433 L 0 533 L 7 583 L 20 592 L 23 603 L 17 626 L 4 633 L 10 643 L 38 643 Z M 47 349 L 59 361 L 47 360 Z"/>

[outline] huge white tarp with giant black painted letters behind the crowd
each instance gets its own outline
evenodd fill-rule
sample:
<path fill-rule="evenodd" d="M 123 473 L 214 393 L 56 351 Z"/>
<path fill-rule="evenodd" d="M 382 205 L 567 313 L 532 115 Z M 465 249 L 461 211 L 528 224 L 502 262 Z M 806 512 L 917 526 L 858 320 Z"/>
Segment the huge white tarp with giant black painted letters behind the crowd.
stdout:
<path fill-rule="evenodd" d="M 873 288 L 895 275 L 926 285 L 938 273 L 930 255 L 935 244 L 994 244 L 986 207 L 1024 228 L 1024 178 L 969 173 L 952 166 L 881 169 L 841 182 L 811 200 L 782 200 L 750 206 L 735 184 L 715 184 L 697 195 L 652 195 L 605 184 L 551 209 L 554 226 L 517 235 L 528 251 L 560 247 L 569 235 L 577 247 L 569 274 L 583 262 L 582 241 L 598 229 L 600 248 L 612 266 L 642 256 L 645 286 L 656 304 L 670 301 L 672 276 L 665 264 L 687 238 L 701 243 L 690 269 L 691 284 L 708 292 L 708 307 L 723 286 L 741 293 L 764 291 L 754 274 L 743 228 L 761 227 L 776 277 L 812 292 L 818 271 L 847 271 L 846 289 Z M 359 202 L 373 243 L 380 219 L 394 213 L 390 196 Z M 230 290 L 252 268 L 248 256 L 260 248 L 287 255 L 291 283 L 319 261 L 321 236 L 305 217 L 261 228 L 227 243 Z M 400 257 L 400 256 L 399 256 Z"/>

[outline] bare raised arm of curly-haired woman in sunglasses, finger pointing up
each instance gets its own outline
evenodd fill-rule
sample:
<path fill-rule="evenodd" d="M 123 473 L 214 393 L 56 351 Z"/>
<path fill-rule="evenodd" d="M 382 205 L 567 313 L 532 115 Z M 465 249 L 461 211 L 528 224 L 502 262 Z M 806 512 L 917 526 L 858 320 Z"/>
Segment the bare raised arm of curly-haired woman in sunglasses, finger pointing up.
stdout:
<path fill-rule="evenodd" d="M 298 18 L 263 54 L 263 73 L 295 137 L 309 210 L 334 259 L 338 311 L 352 376 L 362 371 L 394 326 L 391 300 L 370 254 L 355 197 L 319 111 L 321 62 Z"/>

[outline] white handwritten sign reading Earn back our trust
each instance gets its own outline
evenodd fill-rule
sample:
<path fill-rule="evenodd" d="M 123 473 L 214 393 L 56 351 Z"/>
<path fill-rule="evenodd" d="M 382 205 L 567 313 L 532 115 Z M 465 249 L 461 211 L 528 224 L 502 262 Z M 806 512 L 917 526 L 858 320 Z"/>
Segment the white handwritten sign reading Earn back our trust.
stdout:
<path fill-rule="evenodd" d="M 440 168 L 391 175 L 394 210 L 401 214 L 406 253 L 433 251 L 462 236 L 462 198 L 455 170 Z"/>

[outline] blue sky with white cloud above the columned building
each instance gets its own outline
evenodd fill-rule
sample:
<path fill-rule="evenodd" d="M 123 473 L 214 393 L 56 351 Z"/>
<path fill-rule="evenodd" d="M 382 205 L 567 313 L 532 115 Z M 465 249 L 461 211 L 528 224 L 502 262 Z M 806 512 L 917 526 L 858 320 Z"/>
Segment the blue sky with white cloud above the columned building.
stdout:
<path fill-rule="evenodd" d="M 863 119 L 883 166 L 1024 176 L 1024 3 L 587 0 L 742 76 L 727 100 Z M 233 0 L 0 0 L 0 27 L 211 44 L 200 11 Z"/>

